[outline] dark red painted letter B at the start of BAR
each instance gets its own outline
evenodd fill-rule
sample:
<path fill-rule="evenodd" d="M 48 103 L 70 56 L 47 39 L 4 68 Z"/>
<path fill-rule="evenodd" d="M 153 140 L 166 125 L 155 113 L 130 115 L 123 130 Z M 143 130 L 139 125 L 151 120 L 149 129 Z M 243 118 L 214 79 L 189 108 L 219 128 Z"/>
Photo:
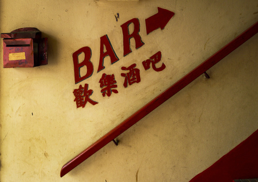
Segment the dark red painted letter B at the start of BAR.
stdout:
<path fill-rule="evenodd" d="M 78 56 L 84 53 L 85 58 L 84 60 L 79 63 Z M 75 51 L 73 53 L 73 60 L 74 60 L 74 79 L 75 79 L 75 84 L 89 78 L 92 73 L 93 73 L 93 64 L 90 62 L 91 58 L 91 50 L 89 47 L 83 47 L 79 49 L 78 51 Z M 80 75 L 80 68 L 86 66 L 87 67 L 87 74 L 81 77 Z"/>

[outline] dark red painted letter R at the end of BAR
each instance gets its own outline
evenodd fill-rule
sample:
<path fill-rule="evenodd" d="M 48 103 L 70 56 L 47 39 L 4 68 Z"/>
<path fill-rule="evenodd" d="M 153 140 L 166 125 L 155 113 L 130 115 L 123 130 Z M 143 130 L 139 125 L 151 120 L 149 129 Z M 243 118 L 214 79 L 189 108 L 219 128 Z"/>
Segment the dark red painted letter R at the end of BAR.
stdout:
<path fill-rule="evenodd" d="M 129 34 L 128 26 L 133 23 L 134 24 L 134 31 L 132 34 Z M 140 31 L 140 22 L 137 18 L 133 18 L 121 25 L 123 30 L 123 56 L 131 53 L 132 50 L 130 48 L 130 39 L 135 39 L 135 48 L 138 49 L 144 45 L 142 42 L 141 36 L 139 35 Z"/>

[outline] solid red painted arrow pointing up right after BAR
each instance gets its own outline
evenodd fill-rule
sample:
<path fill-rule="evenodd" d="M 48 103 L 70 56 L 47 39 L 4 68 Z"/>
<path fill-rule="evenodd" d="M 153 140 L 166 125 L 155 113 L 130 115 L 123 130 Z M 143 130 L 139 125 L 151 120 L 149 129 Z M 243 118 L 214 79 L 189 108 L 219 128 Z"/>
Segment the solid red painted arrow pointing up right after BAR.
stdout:
<path fill-rule="evenodd" d="M 169 22 L 169 20 L 175 15 L 174 12 L 163 8 L 158 7 L 157 10 L 157 14 L 145 20 L 147 34 L 149 34 L 155 29 L 158 29 L 159 27 L 163 30 Z"/>

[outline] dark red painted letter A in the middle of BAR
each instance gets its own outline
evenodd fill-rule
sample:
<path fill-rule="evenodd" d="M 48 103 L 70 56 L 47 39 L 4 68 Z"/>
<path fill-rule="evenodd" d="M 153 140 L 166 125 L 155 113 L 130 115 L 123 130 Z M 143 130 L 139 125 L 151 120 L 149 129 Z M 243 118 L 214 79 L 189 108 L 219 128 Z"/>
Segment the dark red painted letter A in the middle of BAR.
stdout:
<path fill-rule="evenodd" d="M 106 47 L 106 52 L 104 52 L 104 45 Z M 98 68 L 98 72 L 102 69 L 105 68 L 105 66 L 103 65 L 104 63 L 104 58 L 106 56 L 110 57 L 111 60 L 111 64 L 115 63 L 116 61 L 118 61 L 118 57 L 116 56 L 116 53 L 108 39 L 108 35 L 104 35 L 103 37 L 101 37 L 101 48 L 100 48 L 100 63 L 99 63 L 99 68 Z"/>

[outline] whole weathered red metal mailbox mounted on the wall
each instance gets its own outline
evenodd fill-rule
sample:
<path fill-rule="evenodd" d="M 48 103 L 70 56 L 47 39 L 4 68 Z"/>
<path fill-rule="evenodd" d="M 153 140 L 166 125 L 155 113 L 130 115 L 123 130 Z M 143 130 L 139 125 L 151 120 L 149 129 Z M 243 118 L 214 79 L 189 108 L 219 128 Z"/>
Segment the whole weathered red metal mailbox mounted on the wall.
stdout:
<path fill-rule="evenodd" d="M 35 67 L 46 65 L 47 38 L 38 28 L 19 28 L 1 33 L 4 67 Z"/>

